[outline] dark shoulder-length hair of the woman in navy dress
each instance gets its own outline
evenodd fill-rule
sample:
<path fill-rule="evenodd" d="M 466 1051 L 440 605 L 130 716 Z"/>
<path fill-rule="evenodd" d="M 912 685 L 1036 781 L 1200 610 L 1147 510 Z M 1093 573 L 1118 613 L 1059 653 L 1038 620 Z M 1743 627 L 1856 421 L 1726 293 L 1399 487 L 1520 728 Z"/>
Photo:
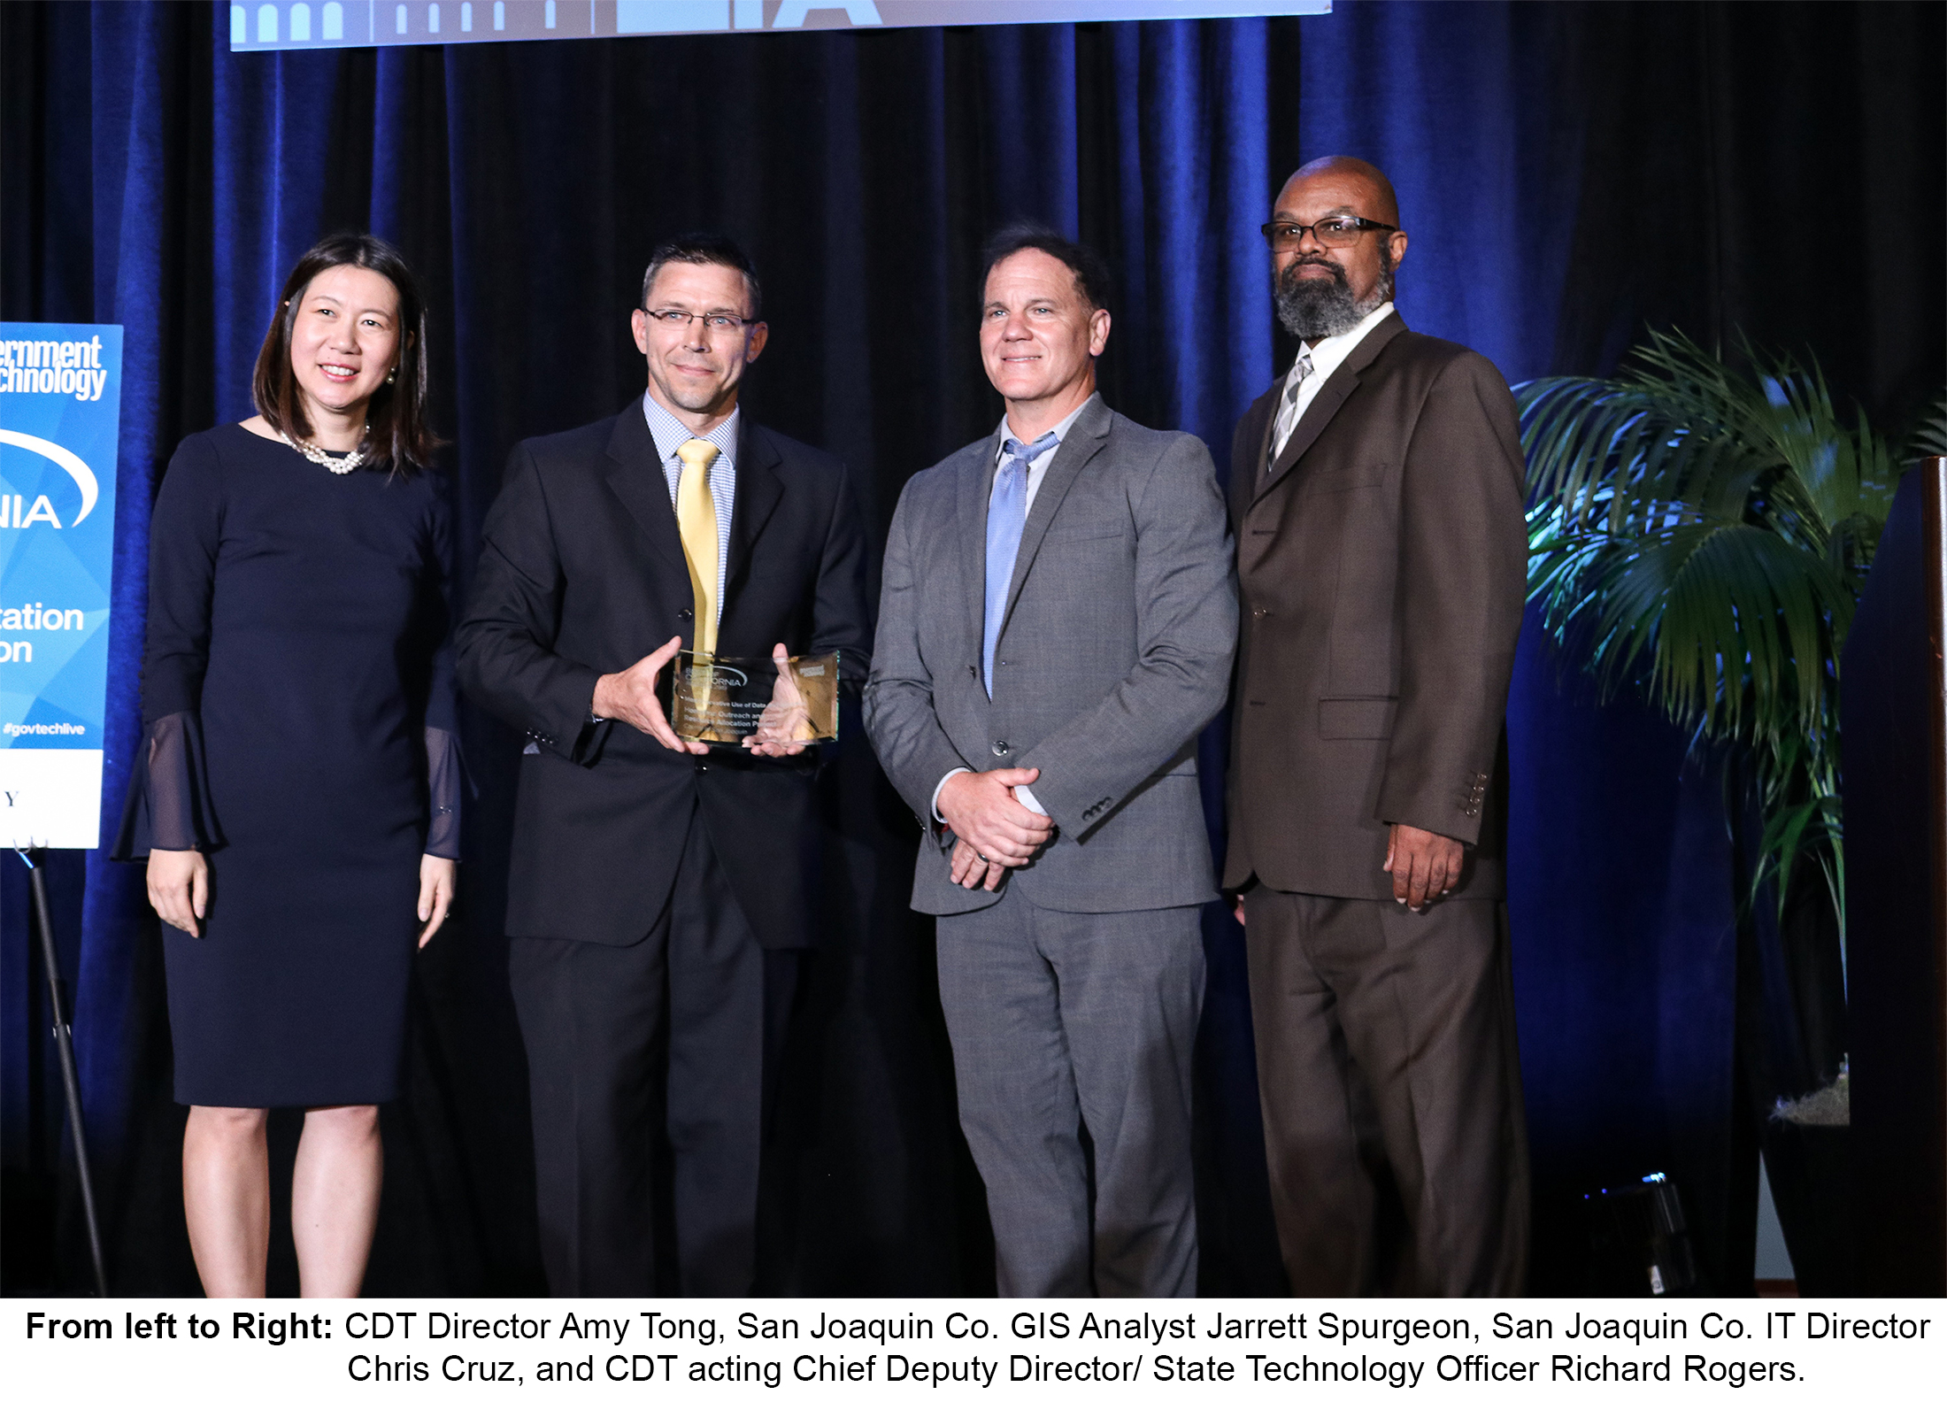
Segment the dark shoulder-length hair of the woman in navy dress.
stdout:
<path fill-rule="evenodd" d="M 263 333 L 257 352 L 257 372 L 249 393 L 263 421 L 292 438 L 310 438 L 312 421 L 304 417 L 298 378 L 290 370 L 290 329 L 298 319 L 304 288 L 325 269 L 362 267 L 391 282 L 399 294 L 399 360 L 397 382 L 382 384 L 368 407 L 368 467 L 387 467 L 413 473 L 432 463 L 432 454 L 444 444 L 426 426 L 426 302 L 419 296 L 419 280 L 391 243 L 370 234 L 327 234 L 298 259 L 284 278 L 276 315 Z"/>

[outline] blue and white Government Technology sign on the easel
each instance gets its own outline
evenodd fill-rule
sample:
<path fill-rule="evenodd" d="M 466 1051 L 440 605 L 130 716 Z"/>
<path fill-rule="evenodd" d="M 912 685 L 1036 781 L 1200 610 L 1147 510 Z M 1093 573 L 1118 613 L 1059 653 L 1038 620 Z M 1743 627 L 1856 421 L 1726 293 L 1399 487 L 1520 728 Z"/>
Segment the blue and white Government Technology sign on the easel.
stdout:
<path fill-rule="evenodd" d="M 95 847 L 121 327 L 0 321 L 0 843 Z"/>

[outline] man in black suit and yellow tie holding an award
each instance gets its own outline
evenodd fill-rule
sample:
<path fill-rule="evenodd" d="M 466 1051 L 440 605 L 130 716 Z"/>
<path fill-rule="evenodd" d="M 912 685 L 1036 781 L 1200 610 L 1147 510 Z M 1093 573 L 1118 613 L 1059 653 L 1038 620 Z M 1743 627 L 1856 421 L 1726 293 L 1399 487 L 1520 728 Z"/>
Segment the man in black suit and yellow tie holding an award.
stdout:
<path fill-rule="evenodd" d="M 680 648 L 868 666 L 843 463 L 750 423 L 757 278 L 658 247 L 648 393 L 514 448 L 459 625 L 467 693 L 528 734 L 506 933 L 555 1295 L 748 1295 L 765 1088 L 814 939 L 818 752 L 685 742 Z M 672 1231 L 674 1227 L 674 1231 Z"/>

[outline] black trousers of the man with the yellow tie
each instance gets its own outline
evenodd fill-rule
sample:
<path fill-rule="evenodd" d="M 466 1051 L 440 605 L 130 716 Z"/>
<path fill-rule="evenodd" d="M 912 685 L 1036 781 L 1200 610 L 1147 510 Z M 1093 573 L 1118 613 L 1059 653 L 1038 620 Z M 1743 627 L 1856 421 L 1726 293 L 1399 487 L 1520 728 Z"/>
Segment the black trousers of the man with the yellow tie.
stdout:
<path fill-rule="evenodd" d="M 750 1295 L 800 958 L 757 944 L 695 814 L 641 941 L 510 941 L 555 1295 Z"/>

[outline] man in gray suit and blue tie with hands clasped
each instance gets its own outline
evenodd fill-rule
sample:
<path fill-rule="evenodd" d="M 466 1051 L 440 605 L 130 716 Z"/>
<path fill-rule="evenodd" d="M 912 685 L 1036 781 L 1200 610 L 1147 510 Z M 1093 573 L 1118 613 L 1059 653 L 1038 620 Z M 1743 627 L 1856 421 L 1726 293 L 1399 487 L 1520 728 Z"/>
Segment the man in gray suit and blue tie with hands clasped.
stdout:
<path fill-rule="evenodd" d="M 1203 444 L 1094 391 L 1102 259 L 987 249 L 989 438 L 915 475 L 866 730 L 927 839 L 960 1125 L 1003 1295 L 1194 1295 L 1190 1048 L 1215 896 L 1195 738 L 1236 586 Z M 1092 1180 L 1090 1180 L 1092 1168 Z"/>

